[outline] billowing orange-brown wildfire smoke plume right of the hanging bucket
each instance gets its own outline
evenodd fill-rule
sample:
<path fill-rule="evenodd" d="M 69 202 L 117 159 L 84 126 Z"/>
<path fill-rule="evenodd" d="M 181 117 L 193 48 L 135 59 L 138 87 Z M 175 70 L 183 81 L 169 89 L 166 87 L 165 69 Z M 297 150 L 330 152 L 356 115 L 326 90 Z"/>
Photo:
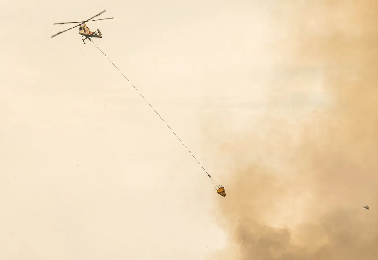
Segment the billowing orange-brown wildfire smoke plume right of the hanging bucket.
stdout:
<path fill-rule="evenodd" d="M 222 142 L 208 146 L 228 170 L 220 180 L 227 197 L 215 203 L 229 242 L 209 259 L 376 259 L 378 3 L 277 1 L 269 11 L 271 6 L 258 8 L 271 12 L 271 31 L 286 36 L 269 46 L 282 59 L 259 101 L 265 112 L 242 130 L 235 130 L 237 124 L 215 127 L 208 119 L 203 127 L 214 129 L 204 132 L 206 138 L 219 132 Z M 316 76 L 293 76 L 300 68 Z M 277 93 L 290 96 L 296 84 L 305 93 L 316 80 L 327 102 L 301 113 L 294 102 L 282 105 Z"/>

